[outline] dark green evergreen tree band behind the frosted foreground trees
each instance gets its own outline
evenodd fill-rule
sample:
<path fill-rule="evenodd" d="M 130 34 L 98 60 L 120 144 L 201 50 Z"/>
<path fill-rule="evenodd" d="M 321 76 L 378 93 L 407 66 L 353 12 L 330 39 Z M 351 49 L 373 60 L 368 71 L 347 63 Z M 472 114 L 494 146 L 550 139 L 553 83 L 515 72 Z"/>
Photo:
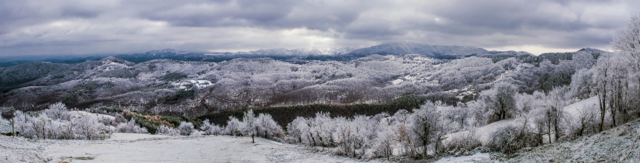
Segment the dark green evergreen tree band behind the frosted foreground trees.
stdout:
<path fill-rule="evenodd" d="M 256 114 L 271 114 L 273 120 L 278 122 L 280 126 L 287 126 L 296 117 L 305 118 L 316 116 L 316 113 L 329 113 L 332 116 L 343 116 L 353 118 L 356 115 L 373 116 L 380 113 L 394 114 L 400 109 L 411 111 L 420 108 L 420 105 L 426 102 L 425 98 L 417 95 L 406 95 L 397 98 L 386 104 L 310 104 L 310 105 L 292 105 L 281 107 L 266 107 L 262 109 L 253 109 Z M 220 111 L 218 113 L 209 113 L 198 116 L 200 120 L 209 120 L 216 125 L 226 125 L 230 117 L 241 118 L 248 109 L 237 109 L 232 111 Z"/>

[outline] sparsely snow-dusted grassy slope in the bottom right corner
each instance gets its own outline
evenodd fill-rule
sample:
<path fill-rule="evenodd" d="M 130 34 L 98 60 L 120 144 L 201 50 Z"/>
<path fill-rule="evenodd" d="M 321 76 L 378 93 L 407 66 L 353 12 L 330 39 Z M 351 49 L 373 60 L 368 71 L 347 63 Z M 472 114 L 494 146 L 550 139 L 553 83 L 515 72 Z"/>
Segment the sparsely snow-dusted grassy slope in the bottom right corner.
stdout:
<path fill-rule="evenodd" d="M 509 162 L 637 162 L 640 160 L 640 121 L 605 130 L 592 136 L 515 153 Z"/>

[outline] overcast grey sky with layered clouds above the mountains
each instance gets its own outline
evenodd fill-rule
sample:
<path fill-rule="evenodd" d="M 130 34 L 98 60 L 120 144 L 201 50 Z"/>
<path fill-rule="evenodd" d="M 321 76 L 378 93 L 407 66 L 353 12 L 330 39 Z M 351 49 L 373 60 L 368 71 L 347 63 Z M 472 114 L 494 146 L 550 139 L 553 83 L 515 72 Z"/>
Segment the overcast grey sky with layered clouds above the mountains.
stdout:
<path fill-rule="evenodd" d="M 353 47 L 611 49 L 640 1 L 0 0 L 0 56 Z"/>

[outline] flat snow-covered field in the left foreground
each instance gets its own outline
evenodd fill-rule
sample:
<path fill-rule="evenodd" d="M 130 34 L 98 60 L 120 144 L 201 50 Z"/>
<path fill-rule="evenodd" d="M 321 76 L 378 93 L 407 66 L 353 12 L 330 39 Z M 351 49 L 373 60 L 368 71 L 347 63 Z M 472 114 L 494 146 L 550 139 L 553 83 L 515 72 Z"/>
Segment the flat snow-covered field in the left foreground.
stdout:
<path fill-rule="evenodd" d="M 104 141 L 38 140 L 0 136 L 0 162 L 364 162 L 328 148 L 282 144 L 256 137 L 166 137 L 115 133 Z M 6 145 L 11 144 L 11 145 Z M 0 156 L 2 156 L 0 155 Z M 22 156 L 25 156 L 24 158 Z M 93 157 L 92 160 L 72 159 Z M 369 162 L 380 162 L 376 159 Z"/>

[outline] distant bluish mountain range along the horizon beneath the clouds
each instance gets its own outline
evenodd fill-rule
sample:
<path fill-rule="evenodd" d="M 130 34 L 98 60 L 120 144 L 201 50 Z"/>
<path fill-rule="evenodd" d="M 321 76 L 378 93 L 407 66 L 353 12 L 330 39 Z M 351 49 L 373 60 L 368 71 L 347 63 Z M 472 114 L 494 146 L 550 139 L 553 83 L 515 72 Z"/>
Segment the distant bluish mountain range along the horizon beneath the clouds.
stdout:
<path fill-rule="evenodd" d="M 603 50 L 584 48 L 579 51 L 587 52 L 604 52 Z M 437 59 L 460 59 L 470 56 L 482 56 L 486 54 L 498 55 L 532 55 L 529 52 L 516 51 L 489 51 L 479 47 L 470 46 L 446 46 L 446 45 L 428 45 L 415 42 L 389 42 L 375 45 L 372 47 L 344 47 L 344 48 L 301 48 L 301 49 L 267 49 L 254 50 L 248 52 L 184 52 L 173 49 L 151 50 L 138 54 L 118 54 L 115 58 L 131 61 L 132 63 L 142 63 L 153 59 L 173 59 L 178 61 L 207 61 L 220 62 L 229 61 L 235 58 L 273 58 L 276 60 L 287 61 L 290 63 L 304 64 L 312 60 L 334 60 L 334 61 L 351 61 L 353 59 L 378 55 L 404 55 L 419 54 L 430 58 Z M 45 59 L 39 60 L 52 63 L 83 63 L 84 61 L 92 61 L 106 58 L 106 56 L 89 56 L 86 58 L 72 59 Z M 0 67 L 15 66 L 33 61 L 19 60 L 0 63 Z"/>

